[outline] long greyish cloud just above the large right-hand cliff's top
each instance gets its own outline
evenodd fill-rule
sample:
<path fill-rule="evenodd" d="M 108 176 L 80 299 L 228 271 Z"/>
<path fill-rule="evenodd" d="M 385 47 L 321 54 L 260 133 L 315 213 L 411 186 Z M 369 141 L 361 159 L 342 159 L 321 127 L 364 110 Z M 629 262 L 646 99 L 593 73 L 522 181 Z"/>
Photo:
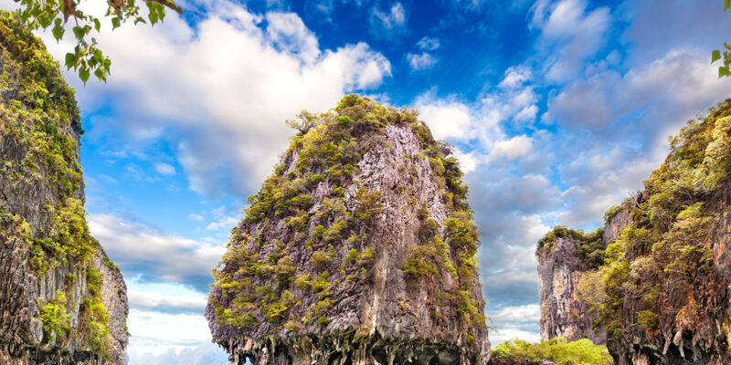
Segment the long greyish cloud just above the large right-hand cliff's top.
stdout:
<path fill-rule="evenodd" d="M 717 78 L 705 56 L 673 50 L 624 75 L 605 71 L 579 79 L 548 101 L 547 118 L 569 128 L 602 130 L 641 112 L 638 120 L 645 128 L 656 126 L 658 118 L 678 128 L 731 93 L 731 85 Z"/>

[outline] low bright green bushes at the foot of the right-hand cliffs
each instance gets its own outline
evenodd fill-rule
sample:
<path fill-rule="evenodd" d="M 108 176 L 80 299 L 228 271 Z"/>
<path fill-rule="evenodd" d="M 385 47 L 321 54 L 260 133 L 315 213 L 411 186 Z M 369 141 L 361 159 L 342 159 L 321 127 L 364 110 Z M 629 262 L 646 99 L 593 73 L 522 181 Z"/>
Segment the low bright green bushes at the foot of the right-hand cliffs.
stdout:
<path fill-rule="evenodd" d="M 549 339 L 540 343 L 528 343 L 513 339 L 493 348 L 494 360 L 507 363 L 549 360 L 558 365 L 610 365 L 613 363 L 606 346 L 591 343 L 588 339 L 567 342 L 563 338 Z"/>

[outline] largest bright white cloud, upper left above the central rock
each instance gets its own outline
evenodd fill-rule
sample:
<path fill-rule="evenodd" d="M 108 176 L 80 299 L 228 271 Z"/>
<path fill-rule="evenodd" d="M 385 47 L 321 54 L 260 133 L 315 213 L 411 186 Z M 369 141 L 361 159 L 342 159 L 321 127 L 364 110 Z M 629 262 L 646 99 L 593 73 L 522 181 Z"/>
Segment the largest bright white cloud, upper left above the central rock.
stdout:
<path fill-rule="evenodd" d="M 143 148 L 175 137 L 178 160 L 197 192 L 248 193 L 287 145 L 284 120 L 300 110 L 328 110 L 344 92 L 376 87 L 390 76 L 387 58 L 365 43 L 321 49 L 295 14 L 258 16 L 228 2 L 207 6 L 195 26 L 170 15 L 152 29 L 102 28 L 113 76 L 78 88 L 94 115 L 90 138 L 122 131 L 126 140 L 111 146 Z M 394 6 L 387 19 L 399 26 L 403 7 Z M 47 44 L 63 58 L 67 41 Z M 94 113 L 102 108 L 115 118 Z"/>

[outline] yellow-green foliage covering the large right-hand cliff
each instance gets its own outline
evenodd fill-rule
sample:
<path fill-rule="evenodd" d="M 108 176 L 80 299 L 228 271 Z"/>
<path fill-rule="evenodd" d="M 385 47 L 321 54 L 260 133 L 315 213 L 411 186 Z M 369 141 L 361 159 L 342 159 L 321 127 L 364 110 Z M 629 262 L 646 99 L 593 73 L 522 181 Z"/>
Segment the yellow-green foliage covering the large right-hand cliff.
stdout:
<path fill-rule="evenodd" d="M 599 303 L 600 319 L 611 334 L 620 336 L 622 303 L 631 298 L 640 303 L 636 326 L 650 338 L 658 335 L 658 316 L 678 309 L 663 306 L 663 298 L 693 297 L 693 288 L 706 280 L 713 257 L 711 226 L 718 219 L 708 198 L 727 182 L 729 130 L 727 100 L 673 137 L 671 153 L 645 181 L 649 198 L 631 211 L 630 225 L 607 248 L 601 269 L 607 297 Z M 688 308 L 680 315 L 703 317 L 703 311 Z"/>

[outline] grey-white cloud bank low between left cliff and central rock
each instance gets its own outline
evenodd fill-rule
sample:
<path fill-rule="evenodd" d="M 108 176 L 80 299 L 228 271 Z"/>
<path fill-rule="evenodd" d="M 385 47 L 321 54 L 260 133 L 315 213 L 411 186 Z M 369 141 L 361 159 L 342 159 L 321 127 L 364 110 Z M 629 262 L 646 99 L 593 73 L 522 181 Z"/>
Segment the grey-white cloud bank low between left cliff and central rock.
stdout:
<path fill-rule="evenodd" d="M 166 234 L 128 214 L 90 214 L 89 227 L 125 276 L 175 282 L 205 293 L 226 248 Z"/>

